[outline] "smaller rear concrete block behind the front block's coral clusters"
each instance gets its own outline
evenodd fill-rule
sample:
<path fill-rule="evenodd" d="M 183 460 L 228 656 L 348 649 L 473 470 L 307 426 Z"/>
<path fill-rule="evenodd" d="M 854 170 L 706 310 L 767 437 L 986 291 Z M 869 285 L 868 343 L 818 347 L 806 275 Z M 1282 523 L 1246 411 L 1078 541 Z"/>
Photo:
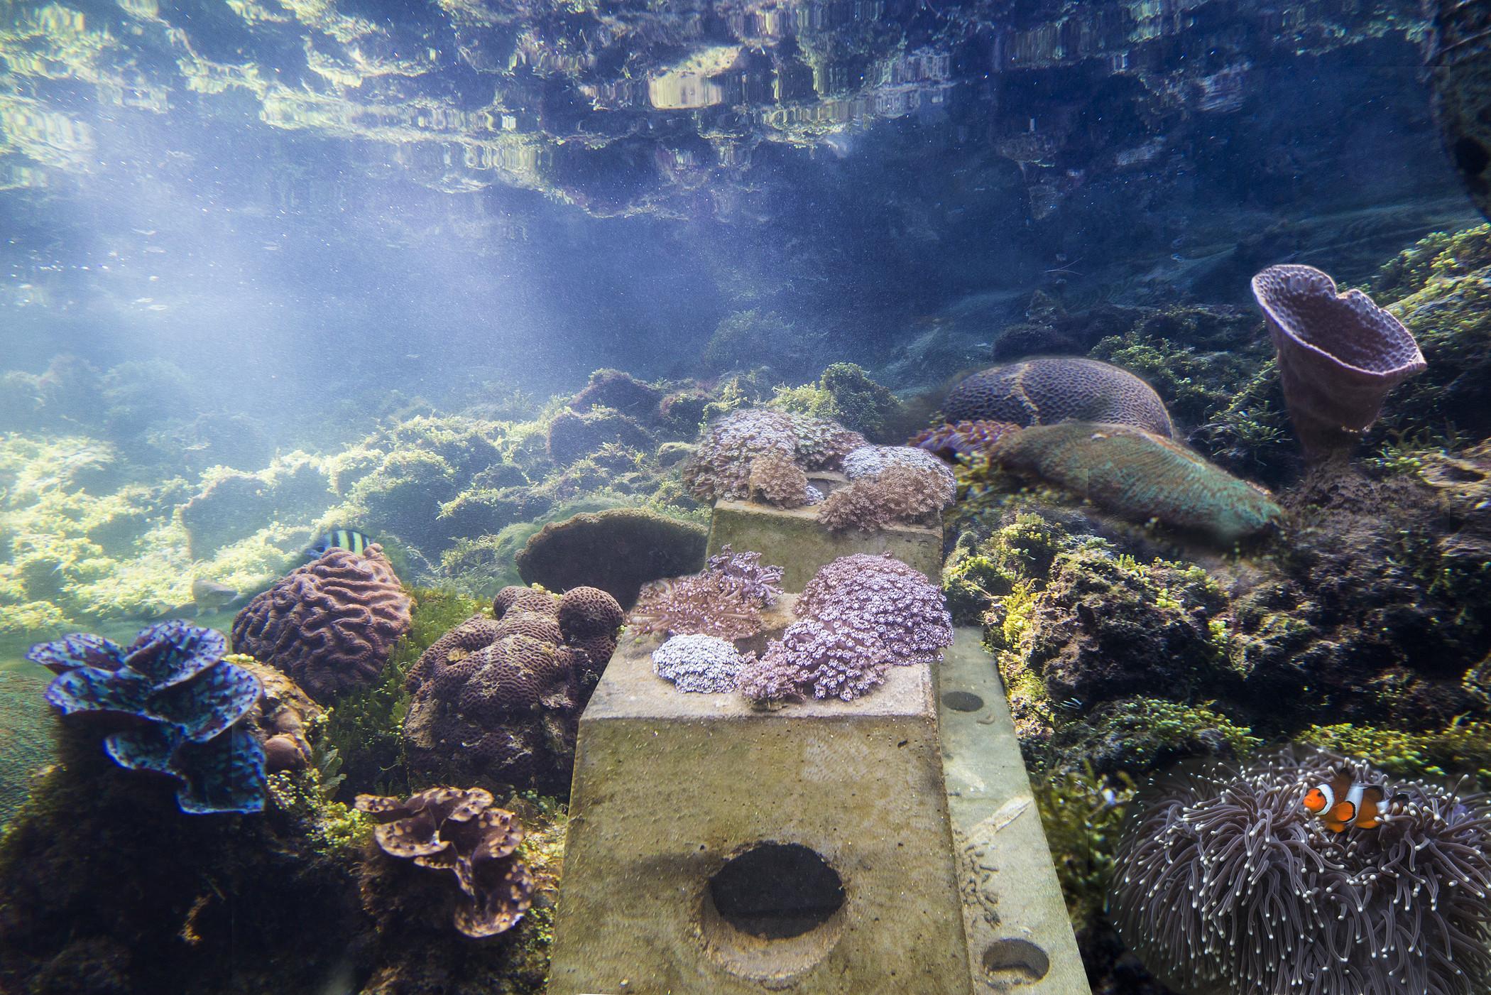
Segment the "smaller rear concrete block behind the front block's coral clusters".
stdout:
<path fill-rule="evenodd" d="M 819 567 L 851 553 L 889 552 L 932 580 L 942 576 L 941 528 L 898 525 L 875 533 L 830 533 L 819 525 L 813 507 L 719 501 L 710 519 L 708 555 L 726 544 L 737 552 L 757 552 L 762 562 L 783 567 L 786 591 L 802 591 Z"/>

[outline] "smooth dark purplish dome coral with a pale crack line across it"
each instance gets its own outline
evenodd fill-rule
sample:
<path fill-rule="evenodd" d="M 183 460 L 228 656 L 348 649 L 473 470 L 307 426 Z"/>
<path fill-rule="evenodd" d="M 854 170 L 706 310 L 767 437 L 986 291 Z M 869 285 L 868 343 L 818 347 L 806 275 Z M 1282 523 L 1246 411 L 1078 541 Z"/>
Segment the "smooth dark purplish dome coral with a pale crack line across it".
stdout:
<path fill-rule="evenodd" d="M 1038 357 L 975 373 L 953 388 L 942 413 L 948 422 L 1053 425 L 1071 419 L 1175 434 L 1154 388 L 1121 367 L 1079 357 Z"/>

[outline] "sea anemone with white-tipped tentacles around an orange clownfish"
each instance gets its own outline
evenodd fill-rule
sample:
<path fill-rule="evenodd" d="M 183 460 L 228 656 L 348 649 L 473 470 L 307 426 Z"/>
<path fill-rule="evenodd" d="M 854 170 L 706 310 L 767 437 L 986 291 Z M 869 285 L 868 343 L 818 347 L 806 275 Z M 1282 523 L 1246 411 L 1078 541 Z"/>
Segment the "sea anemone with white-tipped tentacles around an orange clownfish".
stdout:
<path fill-rule="evenodd" d="M 1285 749 L 1245 770 L 1164 779 L 1114 861 L 1109 913 L 1187 995 L 1473 995 L 1491 991 L 1491 801 L 1387 786 L 1376 828 L 1331 832 L 1303 809 L 1337 768 Z"/>

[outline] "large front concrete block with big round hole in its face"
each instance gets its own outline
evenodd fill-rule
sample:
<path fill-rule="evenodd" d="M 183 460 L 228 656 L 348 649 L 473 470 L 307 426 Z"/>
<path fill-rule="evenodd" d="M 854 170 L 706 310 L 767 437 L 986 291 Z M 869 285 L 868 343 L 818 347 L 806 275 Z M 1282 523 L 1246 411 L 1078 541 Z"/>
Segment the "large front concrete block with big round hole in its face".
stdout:
<path fill-rule="evenodd" d="M 656 646 L 580 719 L 552 995 L 971 995 L 930 668 L 762 713 Z"/>

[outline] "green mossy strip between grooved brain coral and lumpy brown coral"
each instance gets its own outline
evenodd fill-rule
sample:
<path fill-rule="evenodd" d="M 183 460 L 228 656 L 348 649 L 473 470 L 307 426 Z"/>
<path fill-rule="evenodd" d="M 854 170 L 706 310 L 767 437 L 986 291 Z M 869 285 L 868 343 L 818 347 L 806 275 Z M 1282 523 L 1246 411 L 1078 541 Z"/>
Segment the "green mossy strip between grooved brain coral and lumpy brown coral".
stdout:
<path fill-rule="evenodd" d="M 324 743 L 341 758 L 346 780 L 337 794 L 343 798 L 358 792 L 410 792 L 400 737 L 410 700 L 404 679 L 431 643 L 485 610 L 482 601 L 455 591 L 414 588 L 409 594 L 414 600 L 412 624 L 395 643 L 383 673 L 368 688 L 344 695 L 327 719 Z"/>

